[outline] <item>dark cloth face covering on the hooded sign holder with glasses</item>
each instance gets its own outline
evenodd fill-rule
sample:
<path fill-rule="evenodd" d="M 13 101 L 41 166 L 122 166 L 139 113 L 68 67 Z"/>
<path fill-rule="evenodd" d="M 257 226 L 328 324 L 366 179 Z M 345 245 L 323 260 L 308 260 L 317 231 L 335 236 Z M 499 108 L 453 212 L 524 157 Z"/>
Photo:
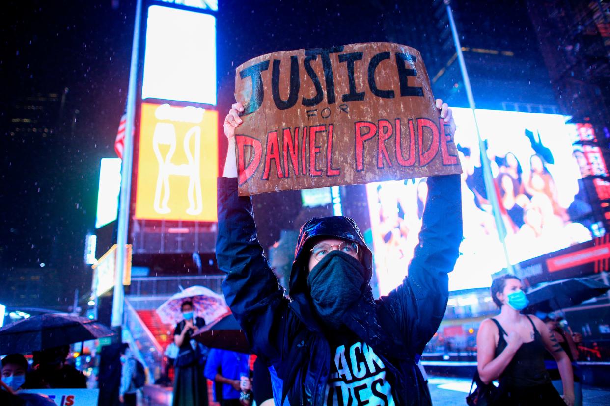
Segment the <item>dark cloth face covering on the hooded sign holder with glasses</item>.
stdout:
<path fill-rule="evenodd" d="M 326 254 L 310 271 L 307 284 L 318 315 L 329 327 L 339 327 L 343 315 L 368 285 L 364 265 L 339 250 Z"/>

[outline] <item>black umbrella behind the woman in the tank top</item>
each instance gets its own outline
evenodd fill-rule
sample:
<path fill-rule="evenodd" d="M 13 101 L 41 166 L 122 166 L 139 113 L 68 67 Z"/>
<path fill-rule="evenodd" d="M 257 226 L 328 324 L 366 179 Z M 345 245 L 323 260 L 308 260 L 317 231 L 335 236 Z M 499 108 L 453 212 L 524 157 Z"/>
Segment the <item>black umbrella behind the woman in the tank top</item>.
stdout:
<path fill-rule="evenodd" d="M 589 278 L 571 278 L 542 284 L 526 295 L 527 309 L 531 312 L 550 313 L 576 306 L 586 300 L 603 295 L 610 286 Z"/>

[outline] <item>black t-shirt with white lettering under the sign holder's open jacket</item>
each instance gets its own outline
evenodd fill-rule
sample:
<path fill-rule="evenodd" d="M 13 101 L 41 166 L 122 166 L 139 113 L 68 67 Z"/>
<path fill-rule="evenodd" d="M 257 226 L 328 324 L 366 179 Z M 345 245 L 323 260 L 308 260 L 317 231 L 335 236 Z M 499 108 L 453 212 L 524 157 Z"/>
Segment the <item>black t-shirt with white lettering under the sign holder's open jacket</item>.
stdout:
<path fill-rule="evenodd" d="M 353 334 L 331 334 L 331 369 L 326 406 L 395 406 L 386 366 L 375 351 Z"/>

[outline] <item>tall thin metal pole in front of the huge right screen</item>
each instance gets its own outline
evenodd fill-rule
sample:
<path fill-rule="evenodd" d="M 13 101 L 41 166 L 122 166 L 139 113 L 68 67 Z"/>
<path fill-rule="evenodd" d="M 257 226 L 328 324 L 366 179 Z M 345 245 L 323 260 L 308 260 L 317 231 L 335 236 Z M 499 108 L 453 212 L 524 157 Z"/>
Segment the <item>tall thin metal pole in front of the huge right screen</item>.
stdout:
<path fill-rule="evenodd" d="M 475 97 L 472 94 L 472 86 L 470 86 L 470 77 L 468 77 L 468 71 L 466 69 L 466 63 L 464 61 L 464 54 L 462 53 L 462 46 L 459 42 L 458 29 L 456 29 L 456 22 L 453 19 L 453 11 L 451 10 L 451 0 L 445 0 L 447 4 L 447 15 L 449 17 L 449 25 L 451 27 L 451 34 L 453 35 L 453 43 L 456 46 L 456 54 L 458 55 L 458 63 L 460 71 L 462 72 L 462 80 L 464 80 L 464 88 L 466 89 L 466 96 L 468 97 L 468 106 L 472 110 L 472 114 L 475 117 L 476 136 L 479 140 L 479 150 L 481 152 L 481 164 L 483 165 L 483 179 L 485 181 L 485 189 L 487 190 L 487 198 L 492 205 L 493 219 L 498 230 L 498 237 L 502 243 L 504 250 L 504 259 L 506 259 L 506 269 L 509 273 L 514 274 L 514 270 L 511 265 L 511 261 L 508 256 L 508 250 L 506 249 L 506 228 L 500 215 L 500 203 L 498 203 L 498 196 L 495 191 L 493 184 L 492 169 L 489 163 L 489 157 L 487 156 L 487 148 L 481 138 L 481 131 L 479 131 L 479 122 L 476 119 L 476 105 Z"/>

